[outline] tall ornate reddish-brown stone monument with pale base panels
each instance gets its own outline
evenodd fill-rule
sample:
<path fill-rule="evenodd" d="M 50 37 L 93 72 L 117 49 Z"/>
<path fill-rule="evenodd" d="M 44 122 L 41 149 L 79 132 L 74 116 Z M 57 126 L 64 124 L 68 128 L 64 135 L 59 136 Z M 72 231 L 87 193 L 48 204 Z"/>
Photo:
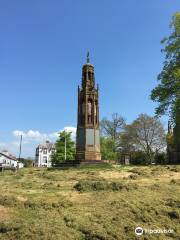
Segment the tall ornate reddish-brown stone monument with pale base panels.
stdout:
<path fill-rule="evenodd" d="M 89 61 L 82 68 L 82 84 L 78 87 L 78 123 L 76 160 L 100 161 L 99 89 L 95 86 L 94 66 Z"/>

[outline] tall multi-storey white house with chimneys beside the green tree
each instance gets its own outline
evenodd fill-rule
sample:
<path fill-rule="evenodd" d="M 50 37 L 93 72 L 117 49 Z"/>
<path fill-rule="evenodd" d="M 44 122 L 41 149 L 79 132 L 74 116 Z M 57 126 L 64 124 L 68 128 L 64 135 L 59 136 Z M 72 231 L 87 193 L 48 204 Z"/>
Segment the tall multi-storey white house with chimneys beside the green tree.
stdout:
<path fill-rule="evenodd" d="M 51 167 L 51 155 L 55 152 L 55 144 L 46 141 L 36 148 L 35 166 Z"/>

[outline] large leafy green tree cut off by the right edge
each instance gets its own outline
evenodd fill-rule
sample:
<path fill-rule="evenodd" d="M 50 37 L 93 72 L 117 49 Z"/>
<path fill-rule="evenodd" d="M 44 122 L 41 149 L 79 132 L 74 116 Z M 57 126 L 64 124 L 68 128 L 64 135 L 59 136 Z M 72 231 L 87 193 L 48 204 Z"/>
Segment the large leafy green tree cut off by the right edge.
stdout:
<path fill-rule="evenodd" d="M 165 45 L 164 66 L 158 75 L 160 83 L 151 92 L 151 99 L 158 102 L 156 114 L 168 113 L 174 124 L 180 125 L 180 12 L 177 12 L 170 25 L 172 33 L 161 43 Z M 179 128 L 178 128 L 179 129 Z M 180 131 L 180 130 L 179 130 Z M 180 138 L 180 133 L 178 135 Z"/>

